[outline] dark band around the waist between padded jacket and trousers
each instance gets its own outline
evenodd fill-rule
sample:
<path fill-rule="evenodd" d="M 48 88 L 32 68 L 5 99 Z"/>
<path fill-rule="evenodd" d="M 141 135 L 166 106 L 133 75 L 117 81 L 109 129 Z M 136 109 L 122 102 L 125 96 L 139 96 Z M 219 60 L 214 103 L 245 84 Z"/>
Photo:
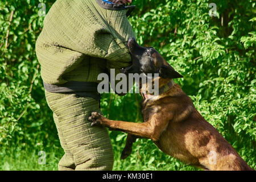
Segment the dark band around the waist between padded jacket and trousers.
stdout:
<path fill-rule="evenodd" d="M 81 97 L 92 97 L 97 101 L 101 100 L 96 82 L 68 81 L 65 84 L 47 84 L 43 82 L 44 89 L 53 93 L 75 93 Z"/>

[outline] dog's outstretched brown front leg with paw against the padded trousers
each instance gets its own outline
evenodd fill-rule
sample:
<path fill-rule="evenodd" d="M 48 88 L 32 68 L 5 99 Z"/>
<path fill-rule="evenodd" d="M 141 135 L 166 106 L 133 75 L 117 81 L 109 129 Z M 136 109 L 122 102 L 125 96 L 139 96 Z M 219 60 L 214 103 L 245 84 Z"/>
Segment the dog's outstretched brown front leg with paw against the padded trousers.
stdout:
<path fill-rule="evenodd" d="M 154 141 L 159 139 L 159 134 L 154 131 L 154 126 L 151 126 L 150 122 L 113 121 L 96 112 L 90 115 L 89 121 L 92 122 L 92 126 L 101 124 L 113 130 L 123 131 L 143 138 L 150 138 Z"/>

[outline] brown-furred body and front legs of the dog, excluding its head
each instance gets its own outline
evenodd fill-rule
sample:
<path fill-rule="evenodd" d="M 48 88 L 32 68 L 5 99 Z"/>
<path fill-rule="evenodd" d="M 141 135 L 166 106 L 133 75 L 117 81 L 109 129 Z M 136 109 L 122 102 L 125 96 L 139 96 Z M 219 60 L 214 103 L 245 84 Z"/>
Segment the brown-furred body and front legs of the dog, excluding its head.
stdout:
<path fill-rule="evenodd" d="M 159 87 L 171 79 L 159 78 Z M 113 121 L 92 113 L 90 121 L 128 133 L 123 158 L 131 152 L 133 135 L 150 138 L 164 153 L 187 164 L 209 170 L 253 170 L 234 148 L 196 110 L 180 86 L 142 102 L 143 123 Z M 210 152 L 216 154 L 211 162 Z"/>

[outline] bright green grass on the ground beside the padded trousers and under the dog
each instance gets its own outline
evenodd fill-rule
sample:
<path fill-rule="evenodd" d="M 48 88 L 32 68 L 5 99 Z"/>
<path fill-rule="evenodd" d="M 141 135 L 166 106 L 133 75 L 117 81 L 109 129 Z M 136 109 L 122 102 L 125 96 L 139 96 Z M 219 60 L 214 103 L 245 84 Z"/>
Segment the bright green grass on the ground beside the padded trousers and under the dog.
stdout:
<path fill-rule="evenodd" d="M 198 170 L 164 154 L 148 139 L 137 139 L 132 154 L 121 160 L 121 152 L 125 146 L 126 134 L 111 131 L 110 138 L 114 151 L 114 171 L 172 171 L 172 170 Z M 118 141 L 117 141 L 118 140 Z M 59 159 L 64 151 L 59 140 L 48 139 L 48 143 L 22 143 L 18 147 L 2 147 L 0 150 L 0 170 L 5 171 L 56 171 Z M 39 164 L 41 155 L 39 151 L 46 152 L 46 163 Z"/>

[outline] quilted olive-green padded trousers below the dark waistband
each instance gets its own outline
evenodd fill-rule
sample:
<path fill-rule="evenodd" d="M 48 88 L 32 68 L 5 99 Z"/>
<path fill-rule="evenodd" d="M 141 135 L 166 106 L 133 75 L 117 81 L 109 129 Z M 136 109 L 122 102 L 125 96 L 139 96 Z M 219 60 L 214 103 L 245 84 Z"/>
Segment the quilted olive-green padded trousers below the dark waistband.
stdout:
<path fill-rule="evenodd" d="M 114 157 L 108 131 L 92 127 L 88 121 L 90 113 L 101 113 L 99 102 L 91 97 L 47 91 L 46 100 L 65 151 L 59 170 L 112 170 Z"/>

